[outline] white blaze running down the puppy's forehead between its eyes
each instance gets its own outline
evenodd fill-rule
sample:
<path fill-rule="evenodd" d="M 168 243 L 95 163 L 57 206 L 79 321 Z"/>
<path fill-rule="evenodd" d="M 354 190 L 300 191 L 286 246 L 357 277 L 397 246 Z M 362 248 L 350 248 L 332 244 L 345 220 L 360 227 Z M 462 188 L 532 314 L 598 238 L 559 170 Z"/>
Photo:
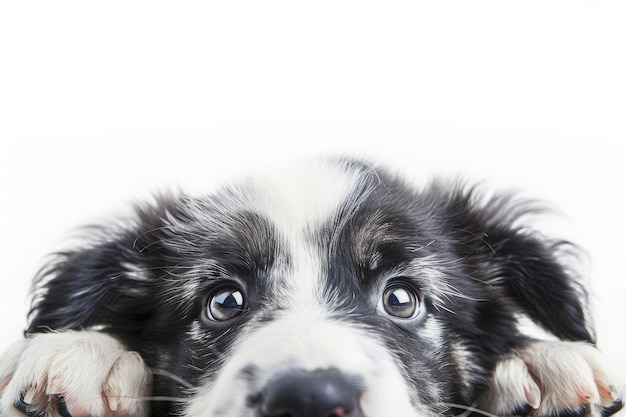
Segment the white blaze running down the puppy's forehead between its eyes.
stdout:
<path fill-rule="evenodd" d="M 319 300 L 325 254 L 312 238 L 336 221 L 346 206 L 355 204 L 367 178 L 358 167 L 318 160 L 269 172 L 248 183 L 251 208 L 275 227 L 281 249 L 289 257 L 289 270 L 276 271 L 282 298 L 289 304 L 306 306 Z"/>

